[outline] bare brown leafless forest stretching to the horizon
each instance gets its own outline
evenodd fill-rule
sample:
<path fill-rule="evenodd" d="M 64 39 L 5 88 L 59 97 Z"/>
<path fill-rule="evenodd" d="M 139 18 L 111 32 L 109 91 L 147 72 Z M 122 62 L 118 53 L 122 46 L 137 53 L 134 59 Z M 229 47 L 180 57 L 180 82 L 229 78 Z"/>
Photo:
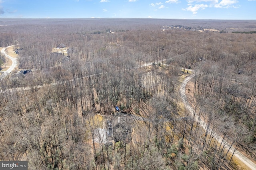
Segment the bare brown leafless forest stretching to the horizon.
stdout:
<path fill-rule="evenodd" d="M 32 170 L 240 168 L 214 130 L 224 146 L 256 161 L 256 34 L 239 33 L 256 31 L 256 21 L 1 19 L 0 25 L 0 46 L 22 49 L 17 70 L 32 70 L 0 80 L 0 160 L 27 160 Z M 170 25 L 220 32 L 163 31 Z M 53 51 L 60 44 L 67 53 Z M 187 95 L 194 116 L 179 91 L 193 73 Z M 115 106 L 129 117 L 123 127 L 129 132 L 116 130 L 110 144 L 99 129 L 114 119 Z"/>

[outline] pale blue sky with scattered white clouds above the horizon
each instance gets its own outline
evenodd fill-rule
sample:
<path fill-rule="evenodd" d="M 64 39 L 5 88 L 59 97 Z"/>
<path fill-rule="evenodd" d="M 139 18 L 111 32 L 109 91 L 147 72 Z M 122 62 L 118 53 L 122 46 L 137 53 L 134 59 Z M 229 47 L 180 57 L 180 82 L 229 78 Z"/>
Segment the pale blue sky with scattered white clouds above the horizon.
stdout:
<path fill-rule="evenodd" d="M 0 0 L 0 18 L 256 20 L 256 0 Z"/>

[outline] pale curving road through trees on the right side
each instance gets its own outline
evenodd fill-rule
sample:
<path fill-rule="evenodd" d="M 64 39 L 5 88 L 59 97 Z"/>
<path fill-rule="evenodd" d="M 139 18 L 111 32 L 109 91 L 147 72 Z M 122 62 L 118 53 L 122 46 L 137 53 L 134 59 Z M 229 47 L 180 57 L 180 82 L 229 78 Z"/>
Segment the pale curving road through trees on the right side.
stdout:
<path fill-rule="evenodd" d="M 194 77 L 193 75 L 190 75 L 189 77 L 187 77 L 183 82 L 182 85 L 180 87 L 180 95 L 182 98 L 182 101 L 186 107 L 186 109 L 188 109 L 188 111 L 190 112 L 190 115 L 193 116 L 194 115 L 194 110 L 192 109 L 192 107 L 190 106 L 190 104 L 188 103 L 187 97 L 186 97 L 186 85 L 188 83 L 188 81 L 190 79 L 192 79 Z M 199 121 L 200 125 L 202 126 L 202 128 L 206 131 L 207 127 L 206 127 L 206 123 L 198 117 L 198 115 L 195 115 L 195 121 Z M 212 131 L 212 129 L 208 129 L 208 131 Z M 217 134 L 216 132 L 213 132 L 213 136 L 216 140 L 218 140 L 219 143 L 222 144 L 222 137 Z M 223 146 L 223 144 L 222 144 Z M 230 148 L 230 144 L 225 144 L 224 146 L 226 149 Z M 234 152 L 234 147 L 232 146 L 230 148 L 230 152 L 233 153 Z M 241 152 L 239 152 L 238 150 L 236 150 L 236 152 L 234 153 L 234 156 L 236 156 L 239 160 L 241 160 L 244 164 L 246 164 L 246 166 L 248 166 L 250 169 L 252 170 L 256 170 L 256 164 L 254 162 L 252 162 L 250 159 L 248 159 L 246 156 L 244 156 Z"/>

